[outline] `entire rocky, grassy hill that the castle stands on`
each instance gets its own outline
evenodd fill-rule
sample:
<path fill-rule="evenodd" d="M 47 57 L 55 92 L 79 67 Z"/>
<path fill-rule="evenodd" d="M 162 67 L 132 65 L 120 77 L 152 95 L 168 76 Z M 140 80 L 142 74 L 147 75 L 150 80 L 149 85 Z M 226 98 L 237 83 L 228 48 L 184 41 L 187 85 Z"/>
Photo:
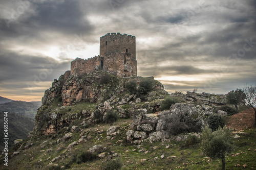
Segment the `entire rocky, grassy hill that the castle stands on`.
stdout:
<path fill-rule="evenodd" d="M 162 109 L 168 98 L 176 104 Z M 34 129 L 9 152 L 8 167 L 100 169 L 118 160 L 123 169 L 216 169 L 220 164 L 200 153 L 200 131 L 209 115 L 228 114 L 223 106 L 225 95 L 168 94 L 153 77 L 120 78 L 104 71 L 70 75 L 67 71 L 45 91 Z M 109 122 L 116 114 L 117 122 Z M 256 155 L 251 155 L 256 149 L 251 143 L 256 140 L 254 133 L 247 131 L 234 142 L 238 146 L 234 152 L 239 151 L 249 167 L 256 167 L 249 161 Z M 188 142 L 193 135 L 196 140 Z M 237 156 L 229 156 L 227 167 L 233 166 L 231 160 Z"/>

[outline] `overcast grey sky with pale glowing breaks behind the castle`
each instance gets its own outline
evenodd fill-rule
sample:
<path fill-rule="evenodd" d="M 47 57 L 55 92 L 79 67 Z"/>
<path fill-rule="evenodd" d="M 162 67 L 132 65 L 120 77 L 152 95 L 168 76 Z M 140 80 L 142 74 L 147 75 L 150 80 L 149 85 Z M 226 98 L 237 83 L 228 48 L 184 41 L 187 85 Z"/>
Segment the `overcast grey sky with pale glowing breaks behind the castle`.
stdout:
<path fill-rule="evenodd" d="M 2 0 L 0 95 L 40 101 L 112 32 L 136 36 L 138 76 L 168 92 L 224 94 L 256 83 L 253 0 Z"/>

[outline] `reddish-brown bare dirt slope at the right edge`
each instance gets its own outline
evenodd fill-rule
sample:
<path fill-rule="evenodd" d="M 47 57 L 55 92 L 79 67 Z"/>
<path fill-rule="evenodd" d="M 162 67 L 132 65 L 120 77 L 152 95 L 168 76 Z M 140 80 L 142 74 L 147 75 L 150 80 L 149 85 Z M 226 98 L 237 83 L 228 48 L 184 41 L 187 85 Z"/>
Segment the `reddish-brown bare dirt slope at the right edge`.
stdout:
<path fill-rule="evenodd" d="M 254 127 L 254 110 L 251 108 L 230 116 L 227 119 L 226 126 L 234 130 L 243 130 Z"/>

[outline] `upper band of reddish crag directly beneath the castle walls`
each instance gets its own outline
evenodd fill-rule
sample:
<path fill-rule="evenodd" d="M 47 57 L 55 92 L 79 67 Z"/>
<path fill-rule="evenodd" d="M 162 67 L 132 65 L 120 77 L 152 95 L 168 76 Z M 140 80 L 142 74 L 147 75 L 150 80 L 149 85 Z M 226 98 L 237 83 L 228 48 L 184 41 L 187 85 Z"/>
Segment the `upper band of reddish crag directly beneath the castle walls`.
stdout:
<path fill-rule="evenodd" d="M 45 91 L 45 95 L 42 97 L 42 105 L 50 105 L 54 101 L 62 102 L 63 106 L 69 106 L 81 101 L 89 101 L 91 103 L 104 102 L 123 93 L 125 82 L 135 80 L 139 83 L 142 79 L 144 78 L 120 78 L 112 75 L 112 72 L 103 71 L 95 71 L 84 75 L 70 75 L 70 71 L 66 71 L 58 80 L 54 80 L 50 89 Z M 164 91 L 163 85 L 156 80 L 154 89 L 156 91 L 148 94 L 148 99 L 146 100 L 155 99 L 159 92 L 162 94 L 167 93 Z M 111 102 L 120 102 L 120 105 L 129 102 L 132 98 L 134 98 L 134 94 L 127 96 L 126 99 L 121 99 L 120 101 L 112 100 Z M 160 99 L 162 98 L 160 96 Z M 136 103 L 141 102 L 136 97 L 134 100 Z"/>

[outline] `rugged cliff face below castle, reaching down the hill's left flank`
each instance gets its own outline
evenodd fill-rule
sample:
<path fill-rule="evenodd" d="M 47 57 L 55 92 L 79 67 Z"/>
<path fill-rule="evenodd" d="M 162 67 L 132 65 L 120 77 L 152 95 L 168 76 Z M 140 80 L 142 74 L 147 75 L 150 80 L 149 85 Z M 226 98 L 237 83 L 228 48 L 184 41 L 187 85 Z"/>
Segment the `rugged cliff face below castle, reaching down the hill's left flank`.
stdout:
<path fill-rule="evenodd" d="M 152 91 L 138 96 L 130 93 L 126 82 L 139 82 L 145 79 L 154 82 Z M 153 77 L 120 78 L 112 72 L 95 71 L 91 74 L 70 75 L 67 71 L 58 80 L 54 80 L 52 87 L 45 91 L 42 107 L 36 115 L 35 131 L 42 134 L 56 133 L 79 117 L 84 123 L 93 123 L 93 112 L 98 109 L 103 114 L 114 108 L 120 117 L 131 117 L 137 114 L 141 107 L 151 112 L 159 111 L 160 103 L 167 92 L 163 85 Z M 144 106 L 140 103 L 148 102 Z M 78 109 L 71 111 L 74 106 Z M 70 110 L 69 110 L 70 109 Z M 79 119 L 80 119 L 79 118 Z"/>

